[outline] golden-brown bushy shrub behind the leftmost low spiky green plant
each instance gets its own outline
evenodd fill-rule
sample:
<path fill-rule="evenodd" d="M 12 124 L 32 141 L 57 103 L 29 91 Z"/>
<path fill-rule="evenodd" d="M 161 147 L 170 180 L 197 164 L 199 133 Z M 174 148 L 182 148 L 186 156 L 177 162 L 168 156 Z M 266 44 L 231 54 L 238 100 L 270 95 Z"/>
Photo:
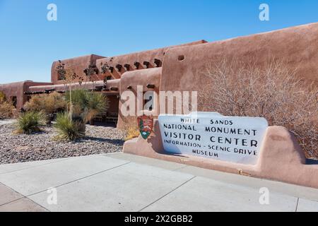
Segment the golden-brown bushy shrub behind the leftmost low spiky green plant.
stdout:
<path fill-rule="evenodd" d="M 49 119 L 54 119 L 57 112 L 66 109 L 66 101 L 64 95 L 57 92 L 35 95 L 25 103 L 24 109 L 33 112 L 43 111 Z"/>

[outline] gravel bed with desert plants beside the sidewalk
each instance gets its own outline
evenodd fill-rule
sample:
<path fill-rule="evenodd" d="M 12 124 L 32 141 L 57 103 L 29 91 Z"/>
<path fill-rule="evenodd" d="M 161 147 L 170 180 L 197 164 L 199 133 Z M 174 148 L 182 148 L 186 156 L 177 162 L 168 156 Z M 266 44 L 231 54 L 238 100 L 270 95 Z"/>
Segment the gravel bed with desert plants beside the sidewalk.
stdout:
<path fill-rule="evenodd" d="M 0 124 L 0 164 L 114 153 L 124 144 L 124 132 L 112 127 L 87 126 L 86 138 L 76 142 L 53 141 L 52 127 L 32 135 L 13 131 L 13 124 Z"/>

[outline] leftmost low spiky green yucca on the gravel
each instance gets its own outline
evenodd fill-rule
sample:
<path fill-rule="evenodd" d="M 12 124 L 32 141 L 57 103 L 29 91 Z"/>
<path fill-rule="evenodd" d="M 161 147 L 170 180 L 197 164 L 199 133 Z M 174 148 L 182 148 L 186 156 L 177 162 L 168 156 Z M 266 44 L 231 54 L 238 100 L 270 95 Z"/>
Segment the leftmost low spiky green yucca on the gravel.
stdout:
<path fill-rule="evenodd" d="M 17 133 L 35 133 L 41 131 L 41 126 L 45 126 L 47 121 L 44 112 L 24 112 L 18 117 L 16 122 Z"/>

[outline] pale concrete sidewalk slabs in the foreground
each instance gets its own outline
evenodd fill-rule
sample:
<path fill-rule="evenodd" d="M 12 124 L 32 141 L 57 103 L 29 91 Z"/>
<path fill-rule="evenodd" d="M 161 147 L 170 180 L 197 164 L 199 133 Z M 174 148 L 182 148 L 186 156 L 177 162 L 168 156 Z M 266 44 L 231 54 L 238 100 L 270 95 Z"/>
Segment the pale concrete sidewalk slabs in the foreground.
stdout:
<path fill-rule="evenodd" d="M 318 189 L 124 153 L 0 165 L 0 183 L 0 211 L 318 211 Z"/>

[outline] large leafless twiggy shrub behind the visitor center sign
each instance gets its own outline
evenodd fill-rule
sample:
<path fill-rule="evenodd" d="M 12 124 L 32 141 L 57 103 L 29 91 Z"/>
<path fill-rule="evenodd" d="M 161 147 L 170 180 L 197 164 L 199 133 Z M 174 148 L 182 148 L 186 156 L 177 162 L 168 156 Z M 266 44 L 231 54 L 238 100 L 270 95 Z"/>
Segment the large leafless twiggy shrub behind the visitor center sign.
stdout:
<path fill-rule="evenodd" d="M 264 117 L 285 126 L 307 157 L 318 157 L 317 85 L 306 85 L 283 61 L 266 66 L 219 59 L 207 66 L 199 109 L 226 116 Z"/>

